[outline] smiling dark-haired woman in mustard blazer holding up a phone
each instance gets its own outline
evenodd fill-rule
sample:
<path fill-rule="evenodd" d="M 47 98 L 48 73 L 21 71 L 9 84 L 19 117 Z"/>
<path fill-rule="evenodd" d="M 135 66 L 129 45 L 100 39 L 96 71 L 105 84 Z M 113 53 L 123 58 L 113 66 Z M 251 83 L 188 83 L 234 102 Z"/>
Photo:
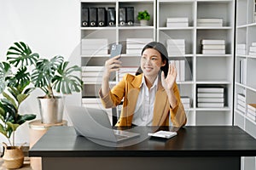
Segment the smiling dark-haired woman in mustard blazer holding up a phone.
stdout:
<path fill-rule="evenodd" d="M 110 74 L 121 67 L 119 57 L 106 61 L 99 92 L 106 108 L 115 107 L 124 99 L 116 126 L 170 126 L 169 116 L 172 126 L 184 126 L 187 118 L 177 88 L 177 71 L 175 65 L 168 63 L 165 46 L 149 42 L 143 48 L 137 76 L 126 74 L 110 90 Z"/>

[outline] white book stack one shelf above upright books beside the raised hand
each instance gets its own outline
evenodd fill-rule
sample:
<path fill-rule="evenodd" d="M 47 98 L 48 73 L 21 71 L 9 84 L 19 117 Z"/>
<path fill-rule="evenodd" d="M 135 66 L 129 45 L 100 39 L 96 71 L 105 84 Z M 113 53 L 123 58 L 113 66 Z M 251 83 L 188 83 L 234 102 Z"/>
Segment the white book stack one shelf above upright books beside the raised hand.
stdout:
<path fill-rule="evenodd" d="M 184 39 L 167 39 L 166 44 L 169 56 L 185 55 Z"/>

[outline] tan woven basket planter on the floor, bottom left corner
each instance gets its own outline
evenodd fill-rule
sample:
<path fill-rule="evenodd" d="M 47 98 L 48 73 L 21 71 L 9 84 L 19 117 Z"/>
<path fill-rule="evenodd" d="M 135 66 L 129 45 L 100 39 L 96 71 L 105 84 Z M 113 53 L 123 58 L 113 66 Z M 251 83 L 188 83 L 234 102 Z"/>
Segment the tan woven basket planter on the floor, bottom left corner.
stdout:
<path fill-rule="evenodd" d="M 24 154 L 21 150 L 21 147 L 18 146 L 8 146 L 3 143 L 3 165 L 7 169 L 16 169 L 20 168 L 23 165 Z"/>

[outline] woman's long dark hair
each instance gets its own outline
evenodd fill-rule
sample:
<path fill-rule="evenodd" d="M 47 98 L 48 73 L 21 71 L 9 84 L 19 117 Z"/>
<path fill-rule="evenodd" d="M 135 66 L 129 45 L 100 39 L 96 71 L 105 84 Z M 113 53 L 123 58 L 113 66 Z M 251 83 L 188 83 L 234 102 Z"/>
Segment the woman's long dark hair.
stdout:
<path fill-rule="evenodd" d="M 164 44 L 162 44 L 161 42 L 149 42 L 143 48 L 142 54 L 148 48 L 153 48 L 153 49 L 157 50 L 161 54 L 162 61 L 163 62 L 166 61 L 166 65 L 161 66 L 160 70 L 164 71 L 165 76 L 167 76 L 168 69 L 169 69 L 169 59 L 168 59 L 168 53 L 167 53 L 167 50 L 166 50 L 166 47 L 164 46 Z M 142 74 L 142 73 L 143 73 L 143 70 L 142 70 L 142 68 L 140 66 L 137 69 L 136 75 L 139 75 L 139 74 Z"/>

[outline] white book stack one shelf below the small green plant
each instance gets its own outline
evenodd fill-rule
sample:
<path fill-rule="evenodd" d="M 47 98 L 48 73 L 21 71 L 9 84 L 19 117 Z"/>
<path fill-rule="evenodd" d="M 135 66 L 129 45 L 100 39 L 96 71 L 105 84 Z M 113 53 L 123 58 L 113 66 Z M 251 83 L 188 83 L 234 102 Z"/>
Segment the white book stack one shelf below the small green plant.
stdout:
<path fill-rule="evenodd" d="M 142 54 L 144 46 L 152 41 L 152 38 L 127 38 L 126 54 Z"/>

